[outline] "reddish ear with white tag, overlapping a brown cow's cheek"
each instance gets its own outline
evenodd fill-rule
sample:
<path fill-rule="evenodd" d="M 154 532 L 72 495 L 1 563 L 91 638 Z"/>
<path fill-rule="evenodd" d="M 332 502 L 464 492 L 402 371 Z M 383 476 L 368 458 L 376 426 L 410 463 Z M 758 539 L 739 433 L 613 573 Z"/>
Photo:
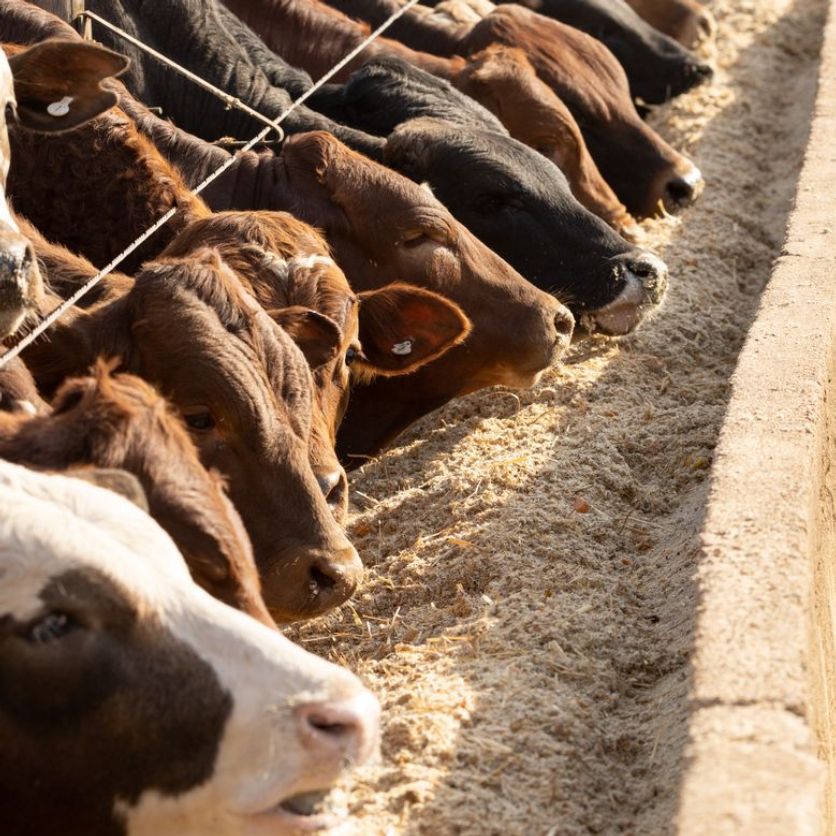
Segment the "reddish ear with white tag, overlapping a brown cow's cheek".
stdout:
<path fill-rule="evenodd" d="M 407 284 L 360 294 L 360 362 L 371 372 L 407 374 L 440 357 L 470 333 L 449 299 Z"/>

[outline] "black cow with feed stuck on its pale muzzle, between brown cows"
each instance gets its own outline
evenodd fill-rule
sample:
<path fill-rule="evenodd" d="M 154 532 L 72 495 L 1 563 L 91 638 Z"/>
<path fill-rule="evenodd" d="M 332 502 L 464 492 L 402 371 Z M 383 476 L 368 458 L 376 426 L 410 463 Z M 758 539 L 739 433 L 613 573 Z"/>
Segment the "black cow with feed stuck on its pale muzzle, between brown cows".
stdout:
<path fill-rule="evenodd" d="M 458 221 L 554 293 L 581 325 L 623 334 L 661 300 L 665 265 L 582 207 L 557 166 L 448 82 L 386 58 L 357 70 L 341 94 L 339 105 L 331 103 L 340 119 L 389 136 L 387 165 L 426 183 Z"/>

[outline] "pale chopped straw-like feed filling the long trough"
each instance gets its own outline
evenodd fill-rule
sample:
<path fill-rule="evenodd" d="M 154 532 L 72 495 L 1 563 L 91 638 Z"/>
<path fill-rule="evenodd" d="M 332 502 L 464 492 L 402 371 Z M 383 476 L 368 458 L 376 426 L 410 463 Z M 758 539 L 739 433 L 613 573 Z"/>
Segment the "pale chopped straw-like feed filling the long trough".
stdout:
<path fill-rule="evenodd" d="M 707 181 L 681 219 L 646 224 L 664 309 L 531 391 L 449 405 L 354 474 L 365 585 L 294 632 L 383 702 L 347 832 L 671 832 L 707 476 L 791 209 L 824 14 L 712 9 L 714 83 L 653 117 Z"/>

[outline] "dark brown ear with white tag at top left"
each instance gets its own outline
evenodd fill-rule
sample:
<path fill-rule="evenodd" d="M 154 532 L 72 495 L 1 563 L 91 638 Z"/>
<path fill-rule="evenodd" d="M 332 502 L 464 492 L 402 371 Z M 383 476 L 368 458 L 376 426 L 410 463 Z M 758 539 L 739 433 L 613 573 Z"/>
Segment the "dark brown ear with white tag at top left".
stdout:
<path fill-rule="evenodd" d="M 49 40 L 9 58 L 20 124 L 57 133 L 77 128 L 118 102 L 101 82 L 124 72 L 128 59 L 95 44 Z"/>

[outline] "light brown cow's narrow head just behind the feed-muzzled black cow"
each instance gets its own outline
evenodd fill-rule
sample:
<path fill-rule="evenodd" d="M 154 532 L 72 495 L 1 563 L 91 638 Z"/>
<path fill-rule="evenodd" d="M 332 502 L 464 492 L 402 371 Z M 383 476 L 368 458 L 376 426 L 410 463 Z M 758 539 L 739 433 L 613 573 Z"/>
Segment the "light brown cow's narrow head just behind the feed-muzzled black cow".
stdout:
<path fill-rule="evenodd" d="M 632 241 L 643 237 L 641 227 L 601 176 L 569 108 L 538 78 L 522 50 L 491 46 L 477 52 L 455 84 L 490 110 L 511 136 L 550 159 L 590 212 Z"/>

